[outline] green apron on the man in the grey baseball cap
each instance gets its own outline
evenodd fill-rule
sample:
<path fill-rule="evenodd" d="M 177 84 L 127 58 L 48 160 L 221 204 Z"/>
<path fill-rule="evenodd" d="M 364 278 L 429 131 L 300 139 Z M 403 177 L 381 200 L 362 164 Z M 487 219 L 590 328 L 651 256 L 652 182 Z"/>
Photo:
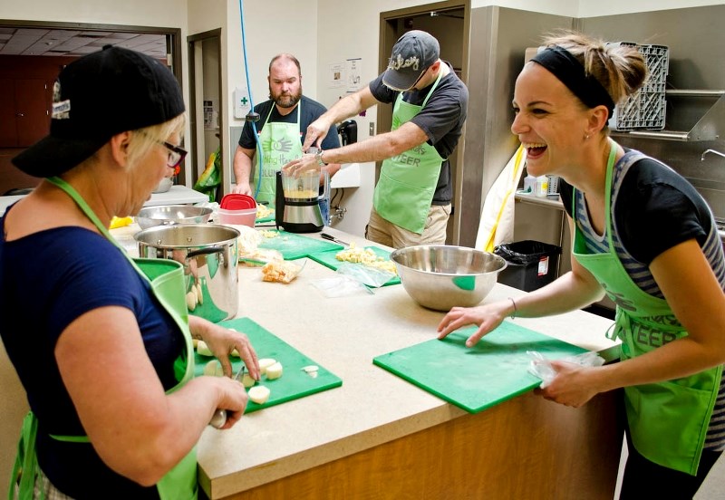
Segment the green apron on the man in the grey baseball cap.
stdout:
<path fill-rule="evenodd" d="M 392 109 L 391 130 L 412 120 L 425 107 L 442 76 L 443 72 L 440 72 L 420 106 L 403 101 L 402 92 L 398 94 Z M 422 234 L 443 160 L 437 149 L 423 142 L 420 146 L 383 161 L 380 179 L 372 195 L 375 211 L 395 226 Z"/>

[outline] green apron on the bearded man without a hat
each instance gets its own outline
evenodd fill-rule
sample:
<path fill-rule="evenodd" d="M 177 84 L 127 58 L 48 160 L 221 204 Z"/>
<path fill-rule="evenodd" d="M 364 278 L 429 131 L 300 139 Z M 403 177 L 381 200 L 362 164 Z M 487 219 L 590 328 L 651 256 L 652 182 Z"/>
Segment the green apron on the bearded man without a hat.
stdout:
<path fill-rule="evenodd" d="M 260 172 L 259 159 L 256 160 L 254 185 L 259 184 L 259 191 L 255 198 L 257 203 L 266 202 L 269 207 L 275 207 L 276 173 L 293 159 L 302 158 L 302 142 L 300 141 L 300 115 L 302 115 L 302 101 L 297 103 L 297 122 L 280 123 L 269 122 L 275 104 L 266 115 L 262 131 L 259 132 L 259 143 L 262 145 L 264 155 L 264 171 Z M 262 180 L 259 181 L 261 174 Z"/>

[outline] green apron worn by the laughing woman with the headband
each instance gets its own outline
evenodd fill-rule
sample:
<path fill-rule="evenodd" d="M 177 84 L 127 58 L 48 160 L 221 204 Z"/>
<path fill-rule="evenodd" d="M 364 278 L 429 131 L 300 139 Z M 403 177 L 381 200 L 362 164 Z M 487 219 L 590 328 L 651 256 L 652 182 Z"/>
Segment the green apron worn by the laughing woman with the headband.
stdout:
<path fill-rule="evenodd" d="M 687 332 L 664 299 L 634 284 L 615 253 L 610 204 L 616 147 L 614 141 L 610 143 L 604 207 L 609 252 L 588 254 L 577 226 L 573 254 L 616 303 L 614 331 L 607 337 L 621 339 L 621 360 L 626 361 L 685 337 Z M 721 376 L 719 366 L 681 379 L 625 387 L 624 406 L 637 451 L 655 464 L 695 476 Z"/>

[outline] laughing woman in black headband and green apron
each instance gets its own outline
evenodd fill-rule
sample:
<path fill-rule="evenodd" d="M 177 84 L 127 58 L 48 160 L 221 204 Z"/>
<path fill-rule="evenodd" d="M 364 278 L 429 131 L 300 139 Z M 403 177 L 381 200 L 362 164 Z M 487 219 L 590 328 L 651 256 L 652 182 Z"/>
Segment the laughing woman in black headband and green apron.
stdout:
<path fill-rule="evenodd" d="M 621 361 L 553 361 L 546 399 L 579 407 L 623 388 L 629 457 L 621 498 L 691 498 L 725 448 L 725 258 L 714 217 L 660 161 L 608 136 L 614 104 L 647 75 L 633 47 L 580 34 L 546 41 L 519 74 L 511 130 L 535 176 L 564 179 L 572 271 L 523 297 L 453 308 L 439 338 L 477 324 L 467 345 L 510 317 L 616 303 Z"/>

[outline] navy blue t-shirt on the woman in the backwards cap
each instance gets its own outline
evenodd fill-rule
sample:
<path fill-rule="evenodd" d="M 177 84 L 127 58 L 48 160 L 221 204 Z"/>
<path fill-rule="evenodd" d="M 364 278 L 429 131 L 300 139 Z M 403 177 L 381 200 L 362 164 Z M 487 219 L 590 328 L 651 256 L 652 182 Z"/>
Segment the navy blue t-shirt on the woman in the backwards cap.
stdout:
<path fill-rule="evenodd" d="M 75 226 L 0 240 L 0 337 L 38 418 L 43 472 L 74 498 L 158 498 L 155 487 L 139 486 L 105 466 L 92 445 L 49 436 L 86 435 L 53 352 L 71 322 L 104 306 L 134 313 L 163 387 L 176 385 L 173 364 L 184 349 L 178 327 L 118 247 Z"/>

